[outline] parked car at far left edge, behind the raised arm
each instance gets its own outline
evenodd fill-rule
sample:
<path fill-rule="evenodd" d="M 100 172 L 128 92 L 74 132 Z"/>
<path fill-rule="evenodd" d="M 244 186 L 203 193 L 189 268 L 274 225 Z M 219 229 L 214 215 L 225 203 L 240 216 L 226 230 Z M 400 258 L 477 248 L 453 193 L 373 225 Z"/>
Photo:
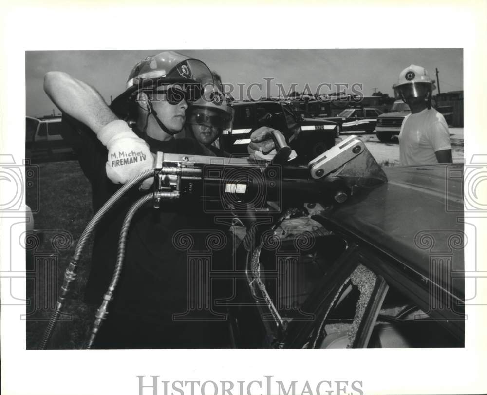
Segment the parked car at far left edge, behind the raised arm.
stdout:
<path fill-rule="evenodd" d="M 73 149 L 61 136 L 61 117 L 25 117 L 25 152 L 30 159 L 74 155 Z"/>

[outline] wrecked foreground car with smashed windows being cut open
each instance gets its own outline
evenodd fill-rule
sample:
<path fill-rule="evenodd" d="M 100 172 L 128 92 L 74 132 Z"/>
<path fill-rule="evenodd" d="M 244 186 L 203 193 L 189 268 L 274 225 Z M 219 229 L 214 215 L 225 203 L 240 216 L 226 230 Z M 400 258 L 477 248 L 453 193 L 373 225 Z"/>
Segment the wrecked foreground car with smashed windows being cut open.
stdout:
<path fill-rule="evenodd" d="M 240 246 L 235 347 L 464 346 L 462 177 L 450 177 L 463 165 L 384 171 L 388 183 Z"/>

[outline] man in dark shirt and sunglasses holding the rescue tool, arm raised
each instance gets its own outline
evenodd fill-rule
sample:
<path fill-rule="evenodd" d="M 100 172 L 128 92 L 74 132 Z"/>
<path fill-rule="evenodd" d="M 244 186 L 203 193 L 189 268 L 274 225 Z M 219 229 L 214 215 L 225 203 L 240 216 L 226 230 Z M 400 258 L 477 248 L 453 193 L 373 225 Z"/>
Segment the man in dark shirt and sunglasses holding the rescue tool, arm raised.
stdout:
<path fill-rule="evenodd" d="M 65 135 L 91 182 L 94 211 L 120 183 L 151 167 L 157 151 L 213 155 L 193 139 L 174 138 L 183 130 L 188 102 L 198 99 L 201 88 L 212 83 L 210 70 L 199 60 L 173 51 L 142 60 L 111 109 L 94 88 L 70 75 L 50 72 L 44 82 L 46 93 L 71 126 Z M 115 266 L 123 219 L 142 193 L 135 188 L 97 227 L 85 301 L 101 302 Z M 194 249 L 204 250 L 205 237 L 198 235 L 213 229 L 217 229 L 213 218 L 201 207 L 183 207 L 179 201 L 165 202 L 158 211 L 150 205 L 142 207 L 132 222 L 124 268 L 95 347 L 228 346 L 225 322 L 211 320 L 212 311 L 203 309 L 189 320 L 175 319 L 184 316 L 188 306 L 199 305 L 195 298 L 201 295 L 189 289 L 188 254 L 175 247 L 173 235 L 186 232 Z M 214 255 L 213 259 L 226 262 L 221 257 L 229 256 L 227 247 L 218 246 L 220 258 Z"/>

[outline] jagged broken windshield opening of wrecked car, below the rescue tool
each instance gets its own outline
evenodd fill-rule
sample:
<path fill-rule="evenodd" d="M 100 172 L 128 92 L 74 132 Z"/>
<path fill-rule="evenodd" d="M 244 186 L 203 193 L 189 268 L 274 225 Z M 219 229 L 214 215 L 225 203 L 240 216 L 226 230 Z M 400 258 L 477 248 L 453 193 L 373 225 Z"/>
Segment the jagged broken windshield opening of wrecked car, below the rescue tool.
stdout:
<path fill-rule="evenodd" d="M 313 233 L 289 230 L 309 229 L 309 222 Z M 292 320 L 313 317 L 302 310 L 303 304 L 339 261 L 347 243 L 309 218 L 283 221 L 270 235 L 252 255 L 248 281 L 254 299 L 265 301 L 285 328 Z"/>

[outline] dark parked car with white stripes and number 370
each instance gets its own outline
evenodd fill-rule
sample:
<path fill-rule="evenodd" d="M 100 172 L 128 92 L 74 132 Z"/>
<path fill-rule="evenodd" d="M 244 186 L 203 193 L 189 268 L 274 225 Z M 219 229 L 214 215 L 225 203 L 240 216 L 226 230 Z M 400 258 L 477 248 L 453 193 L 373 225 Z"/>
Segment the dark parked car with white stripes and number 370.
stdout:
<path fill-rule="evenodd" d="M 220 148 L 231 154 L 247 154 L 250 134 L 261 126 L 279 130 L 303 163 L 333 147 L 338 136 L 335 122 L 301 119 L 282 101 L 233 102 L 232 107 L 235 110 L 233 130 L 220 136 Z"/>

